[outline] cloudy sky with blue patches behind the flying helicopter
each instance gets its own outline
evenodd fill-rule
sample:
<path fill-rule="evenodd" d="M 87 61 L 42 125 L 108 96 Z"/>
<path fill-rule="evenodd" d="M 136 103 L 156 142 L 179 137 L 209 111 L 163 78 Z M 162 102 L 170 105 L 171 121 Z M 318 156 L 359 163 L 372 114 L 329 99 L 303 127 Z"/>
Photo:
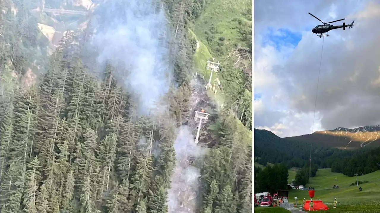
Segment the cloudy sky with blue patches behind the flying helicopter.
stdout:
<path fill-rule="evenodd" d="M 380 30 L 371 27 L 380 21 L 378 1 L 255 0 L 254 6 L 255 128 L 286 137 L 380 124 Z M 321 23 L 308 12 L 325 22 L 355 20 L 354 28 L 332 30 L 323 40 L 311 32 Z"/>

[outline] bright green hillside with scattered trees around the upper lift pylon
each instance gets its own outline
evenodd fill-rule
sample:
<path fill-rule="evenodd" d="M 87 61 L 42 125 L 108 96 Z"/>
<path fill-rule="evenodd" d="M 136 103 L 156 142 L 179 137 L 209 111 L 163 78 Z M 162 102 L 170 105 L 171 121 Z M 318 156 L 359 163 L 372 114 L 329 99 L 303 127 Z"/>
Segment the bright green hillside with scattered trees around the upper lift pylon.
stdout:
<path fill-rule="evenodd" d="M 203 13 L 190 25 L 199 52 L 196 72 L 210 78 L 207 60 L 220 62 L 213 72 L 211 96 L 220 108 L 231 106 L 252 130 L 252 0 L 207 0 Z M 207 51 L 205 51 L 207 50 Z"/>

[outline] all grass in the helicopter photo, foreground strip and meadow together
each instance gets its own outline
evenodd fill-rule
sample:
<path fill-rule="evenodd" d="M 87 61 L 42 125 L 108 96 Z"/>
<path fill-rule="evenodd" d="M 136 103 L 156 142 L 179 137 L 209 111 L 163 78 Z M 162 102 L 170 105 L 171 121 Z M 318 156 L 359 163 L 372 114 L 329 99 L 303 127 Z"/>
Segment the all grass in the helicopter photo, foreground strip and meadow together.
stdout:
<path fill-rule="evenodd" d="M 264 166 L 255 162 L 255 166 L 263 168 Z M 294 179 L 297 168 L 289 169 L 288 180 Z M 337 181 L 335 181 L 337 178 Z M 358 180 L 368 183 L 362 183 L 363 191 L 359 187 L 350 186 L 356 183 L 356 177 L 347 177 L 340 173 L 333 173 L 331 169 L 318 169 L 315 177 L 311 178 L 311 186 L 315 188 L 314 200 L 322 200 L 328 205 L 330 210 L 325 213 L 380 213 L 380 171 L 358 176 Z M 338 185 L 339 188 L 332 188 Z M 305 188 L 307 188 L 306 186 Z M 302 204 L 302 199 L 310 199 L 307 190 L 290 190 L 289 202 L 294 203 L 294 197 L 298 197 L 298 204 Z M 338 208 L 332 209 L 334 198 L 338 200 Z M 278 210 L 277 210 L 278 209 Z M 289 213 L 290 211 L 281 210 L 281 208 L 255 208 L 255 212 L 273 212 Z"/>

